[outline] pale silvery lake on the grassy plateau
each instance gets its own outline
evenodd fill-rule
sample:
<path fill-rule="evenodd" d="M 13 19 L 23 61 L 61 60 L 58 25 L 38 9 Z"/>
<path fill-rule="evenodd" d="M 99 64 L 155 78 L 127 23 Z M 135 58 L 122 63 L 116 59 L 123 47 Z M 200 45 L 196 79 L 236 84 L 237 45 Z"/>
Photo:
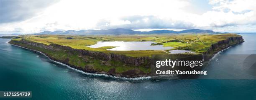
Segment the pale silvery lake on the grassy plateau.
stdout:
<path fill-rule="evenodd" d="M 151 45 L 155 44 L 152 41 L 98 41 L 97 44 L 88 46 L 91 48 L 99 48 L 103 46 L 117 46 L 112 51 L 131 51 L 131 50 L 166 50 L 172 49 L 173 47 L 164 47 L 163 45 Z"/>

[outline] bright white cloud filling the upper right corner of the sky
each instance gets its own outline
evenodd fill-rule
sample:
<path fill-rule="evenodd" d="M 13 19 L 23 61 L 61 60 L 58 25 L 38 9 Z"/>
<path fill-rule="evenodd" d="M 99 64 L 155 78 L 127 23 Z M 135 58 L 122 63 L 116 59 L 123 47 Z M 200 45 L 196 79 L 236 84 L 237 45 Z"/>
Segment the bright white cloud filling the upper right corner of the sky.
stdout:
<path fill-rule="evenodd" d="M 256 24 L 255 0 L 210 0 L 213 11 L 203 14 L 210 16 L 211 27 Z"/>

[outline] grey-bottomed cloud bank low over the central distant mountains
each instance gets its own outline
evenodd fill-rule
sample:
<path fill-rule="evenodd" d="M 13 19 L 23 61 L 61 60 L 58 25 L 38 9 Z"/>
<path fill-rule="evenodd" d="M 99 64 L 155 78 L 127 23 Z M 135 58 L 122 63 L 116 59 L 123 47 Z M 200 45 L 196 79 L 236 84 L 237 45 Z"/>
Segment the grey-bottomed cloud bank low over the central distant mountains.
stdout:
<path fill-rule="evenodd" d="M 128 24 L 112 25 L 110 20 L 100 20 L 97 23 L 97 28 L 126 28 L 126 29 L 190 29 L 194 28 L 192 23 L 177 21 L 171 19 L 160 19 L 155 16 L 128 16 L 120 20 L 130 22 Z"/>

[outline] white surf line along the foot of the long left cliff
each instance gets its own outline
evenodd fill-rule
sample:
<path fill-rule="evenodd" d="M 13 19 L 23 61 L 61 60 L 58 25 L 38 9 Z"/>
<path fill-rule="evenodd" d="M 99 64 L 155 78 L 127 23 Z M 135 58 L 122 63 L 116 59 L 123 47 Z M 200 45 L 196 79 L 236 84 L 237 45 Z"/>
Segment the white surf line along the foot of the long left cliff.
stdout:
<path fill-rule="evenodd" d="M 14 45 L 14 44 L 11 44 L 11 45 Z M 18 45 L 14 45 L 14 46 L 18 46 Z M 22 47 L 22 46 L 18 46 L 18 47 L 21 47 L 21 48 L 24 48 L 24 49 L 28 49 L 28 48 L 25 48 L 25 47 Z M 33 50 L 33 49 L 28 49 L 28 50 L 32 50 L 32 51 L 36 51 L 36 50 Z M 46 54 L 40 52 L 40 51 L 37 51 L 41 54 L 43 54 L 44 56 L 46 56 Z M 58 63 L 58 64 L 61 64 L 63 66 L 67 66 L 67 68 L 70 68 L 72 70 L 75 70 L 77 72 L 80 72 L 80 73 L 83 73 L 83 74 L 86 74 L 86 75 L 89 75 L 89 76 L 104 76 L 104 77 L 109 77 L 109 78 L 117 78 L 117 79 L 122 79 L 122 80 L 148 80 L 151 78 L 151 76 L 146 76 L 146 77 L 137 77 L 137 78 L 126 78 L 126 77 L 121 77 L 121 76 L 110 76 L 110 75 L 107 75 L 107 74 L 100 74 L 100 73 L 87 73 L 87 72 L 84 72 L 82 70 L 79 70 L 79 69 L 76 69 L 76 68 L 72 68 L 71 66 L 69 65 L 66 65 L 64 63 L 61 63 L 61 62 L 58 62 L 58 61 L 54 61 L 52 59 L 50 59 L 48 56 L 46 56 L 50 61 L 53 61 L 54 63 Z"/>

